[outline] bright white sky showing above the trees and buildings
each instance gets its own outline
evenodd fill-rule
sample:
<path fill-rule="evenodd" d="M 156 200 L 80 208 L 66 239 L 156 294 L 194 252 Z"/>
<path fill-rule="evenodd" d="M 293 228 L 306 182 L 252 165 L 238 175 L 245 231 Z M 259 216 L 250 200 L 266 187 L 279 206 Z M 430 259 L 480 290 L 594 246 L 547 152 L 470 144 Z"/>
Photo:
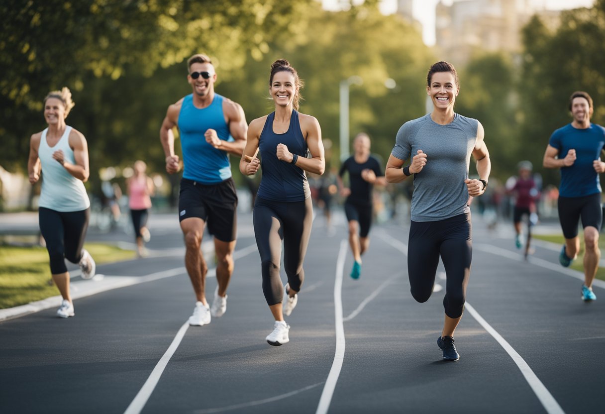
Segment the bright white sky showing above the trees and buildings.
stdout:
<path fill-rule="evenodd" d="M 414 1 L 414 18 L 422 23 L 422 39 L 425 44 L 435 44 L 435 6 L 440 0 L 416 0 Z M 443 0 L 444 4 L 452 4 L 456 0 Z M 564 10 L 577 7 L 591 7 L 594 0 L 532 0 L 534 5 L 549 10 Z M 324 8 L 333 10 L 338 0 L 322 0 Z M 381 10 L 385 14 L 394 13 L 397 9 L 397 0 L 382 0 Z"/>

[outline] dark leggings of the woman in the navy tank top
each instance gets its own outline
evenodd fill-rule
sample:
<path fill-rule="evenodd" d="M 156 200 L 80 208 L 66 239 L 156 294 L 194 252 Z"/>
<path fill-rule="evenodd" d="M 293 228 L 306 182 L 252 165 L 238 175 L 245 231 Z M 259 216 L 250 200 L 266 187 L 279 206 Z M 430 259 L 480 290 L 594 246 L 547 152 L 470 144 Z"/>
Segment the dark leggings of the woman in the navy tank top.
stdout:
<path fill-rule="evenodd" d="M 263 293 L 267 304 L 281 303 L 284 287 L 280 278 L 281 241 L 284 241 L 284 268 L 293 291 L 304 281 L 302 262 L 313 225 L 311 197 L 302 202 L 273 202 L 257 197 L 252 214 L 254 235 L 261 255 Z"/>

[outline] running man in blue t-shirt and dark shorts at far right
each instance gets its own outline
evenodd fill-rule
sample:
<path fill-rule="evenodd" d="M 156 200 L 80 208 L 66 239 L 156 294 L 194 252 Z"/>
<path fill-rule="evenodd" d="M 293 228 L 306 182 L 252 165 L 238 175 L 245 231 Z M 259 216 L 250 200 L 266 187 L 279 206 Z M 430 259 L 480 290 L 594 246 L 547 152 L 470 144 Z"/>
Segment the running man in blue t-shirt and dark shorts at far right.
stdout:
<path fill-rule="evenodd" d="M 603 211 L 599 174 L 605 173 L 605 162 L 601 161 L 605 128 L 590 123 L 594 108 L 592 98 L 586 92 L 572 94 L 569 110 L 574 120 L 552 133 L 544 154 L 544 166 L 561 169 L 558 211 L 565 244 L 559 261 L 564 267 L 574 261 L 580 250 L 578 222 L 580 218 L 582 220 L 586 248 L 582 299 L 592 301 L 597 298 L 592 291 L 592 281 L 601 259 L 599 231 Z"/>

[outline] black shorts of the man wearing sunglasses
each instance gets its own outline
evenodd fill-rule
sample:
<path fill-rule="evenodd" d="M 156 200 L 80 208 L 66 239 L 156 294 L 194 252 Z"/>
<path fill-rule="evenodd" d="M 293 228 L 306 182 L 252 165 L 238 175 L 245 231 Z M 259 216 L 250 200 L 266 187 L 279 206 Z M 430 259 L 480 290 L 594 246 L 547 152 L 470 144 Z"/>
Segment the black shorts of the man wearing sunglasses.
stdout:
<path fill-rule="evenodd" d="M 234 241 L 237 233 L 237 194 L 232 178 L 218 184 L 200 184 L 181 179 L 178 220 L 197 217 L 220 241 Z"/>

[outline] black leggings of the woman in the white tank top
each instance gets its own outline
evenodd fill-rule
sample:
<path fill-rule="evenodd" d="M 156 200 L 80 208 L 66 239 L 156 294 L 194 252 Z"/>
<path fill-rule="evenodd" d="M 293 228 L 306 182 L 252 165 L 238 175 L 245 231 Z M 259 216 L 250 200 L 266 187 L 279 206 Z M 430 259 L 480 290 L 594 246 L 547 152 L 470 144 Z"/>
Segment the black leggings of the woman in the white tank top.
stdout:
<path fill-rule="evenodd" d="M 79 263 L 82 258 L 90 208 L 60 212 L 41 207 L 38 209 L 38 218 L 50 257 L 50 272 L 53 275 L 67 272 L 65 259 Z"/>

